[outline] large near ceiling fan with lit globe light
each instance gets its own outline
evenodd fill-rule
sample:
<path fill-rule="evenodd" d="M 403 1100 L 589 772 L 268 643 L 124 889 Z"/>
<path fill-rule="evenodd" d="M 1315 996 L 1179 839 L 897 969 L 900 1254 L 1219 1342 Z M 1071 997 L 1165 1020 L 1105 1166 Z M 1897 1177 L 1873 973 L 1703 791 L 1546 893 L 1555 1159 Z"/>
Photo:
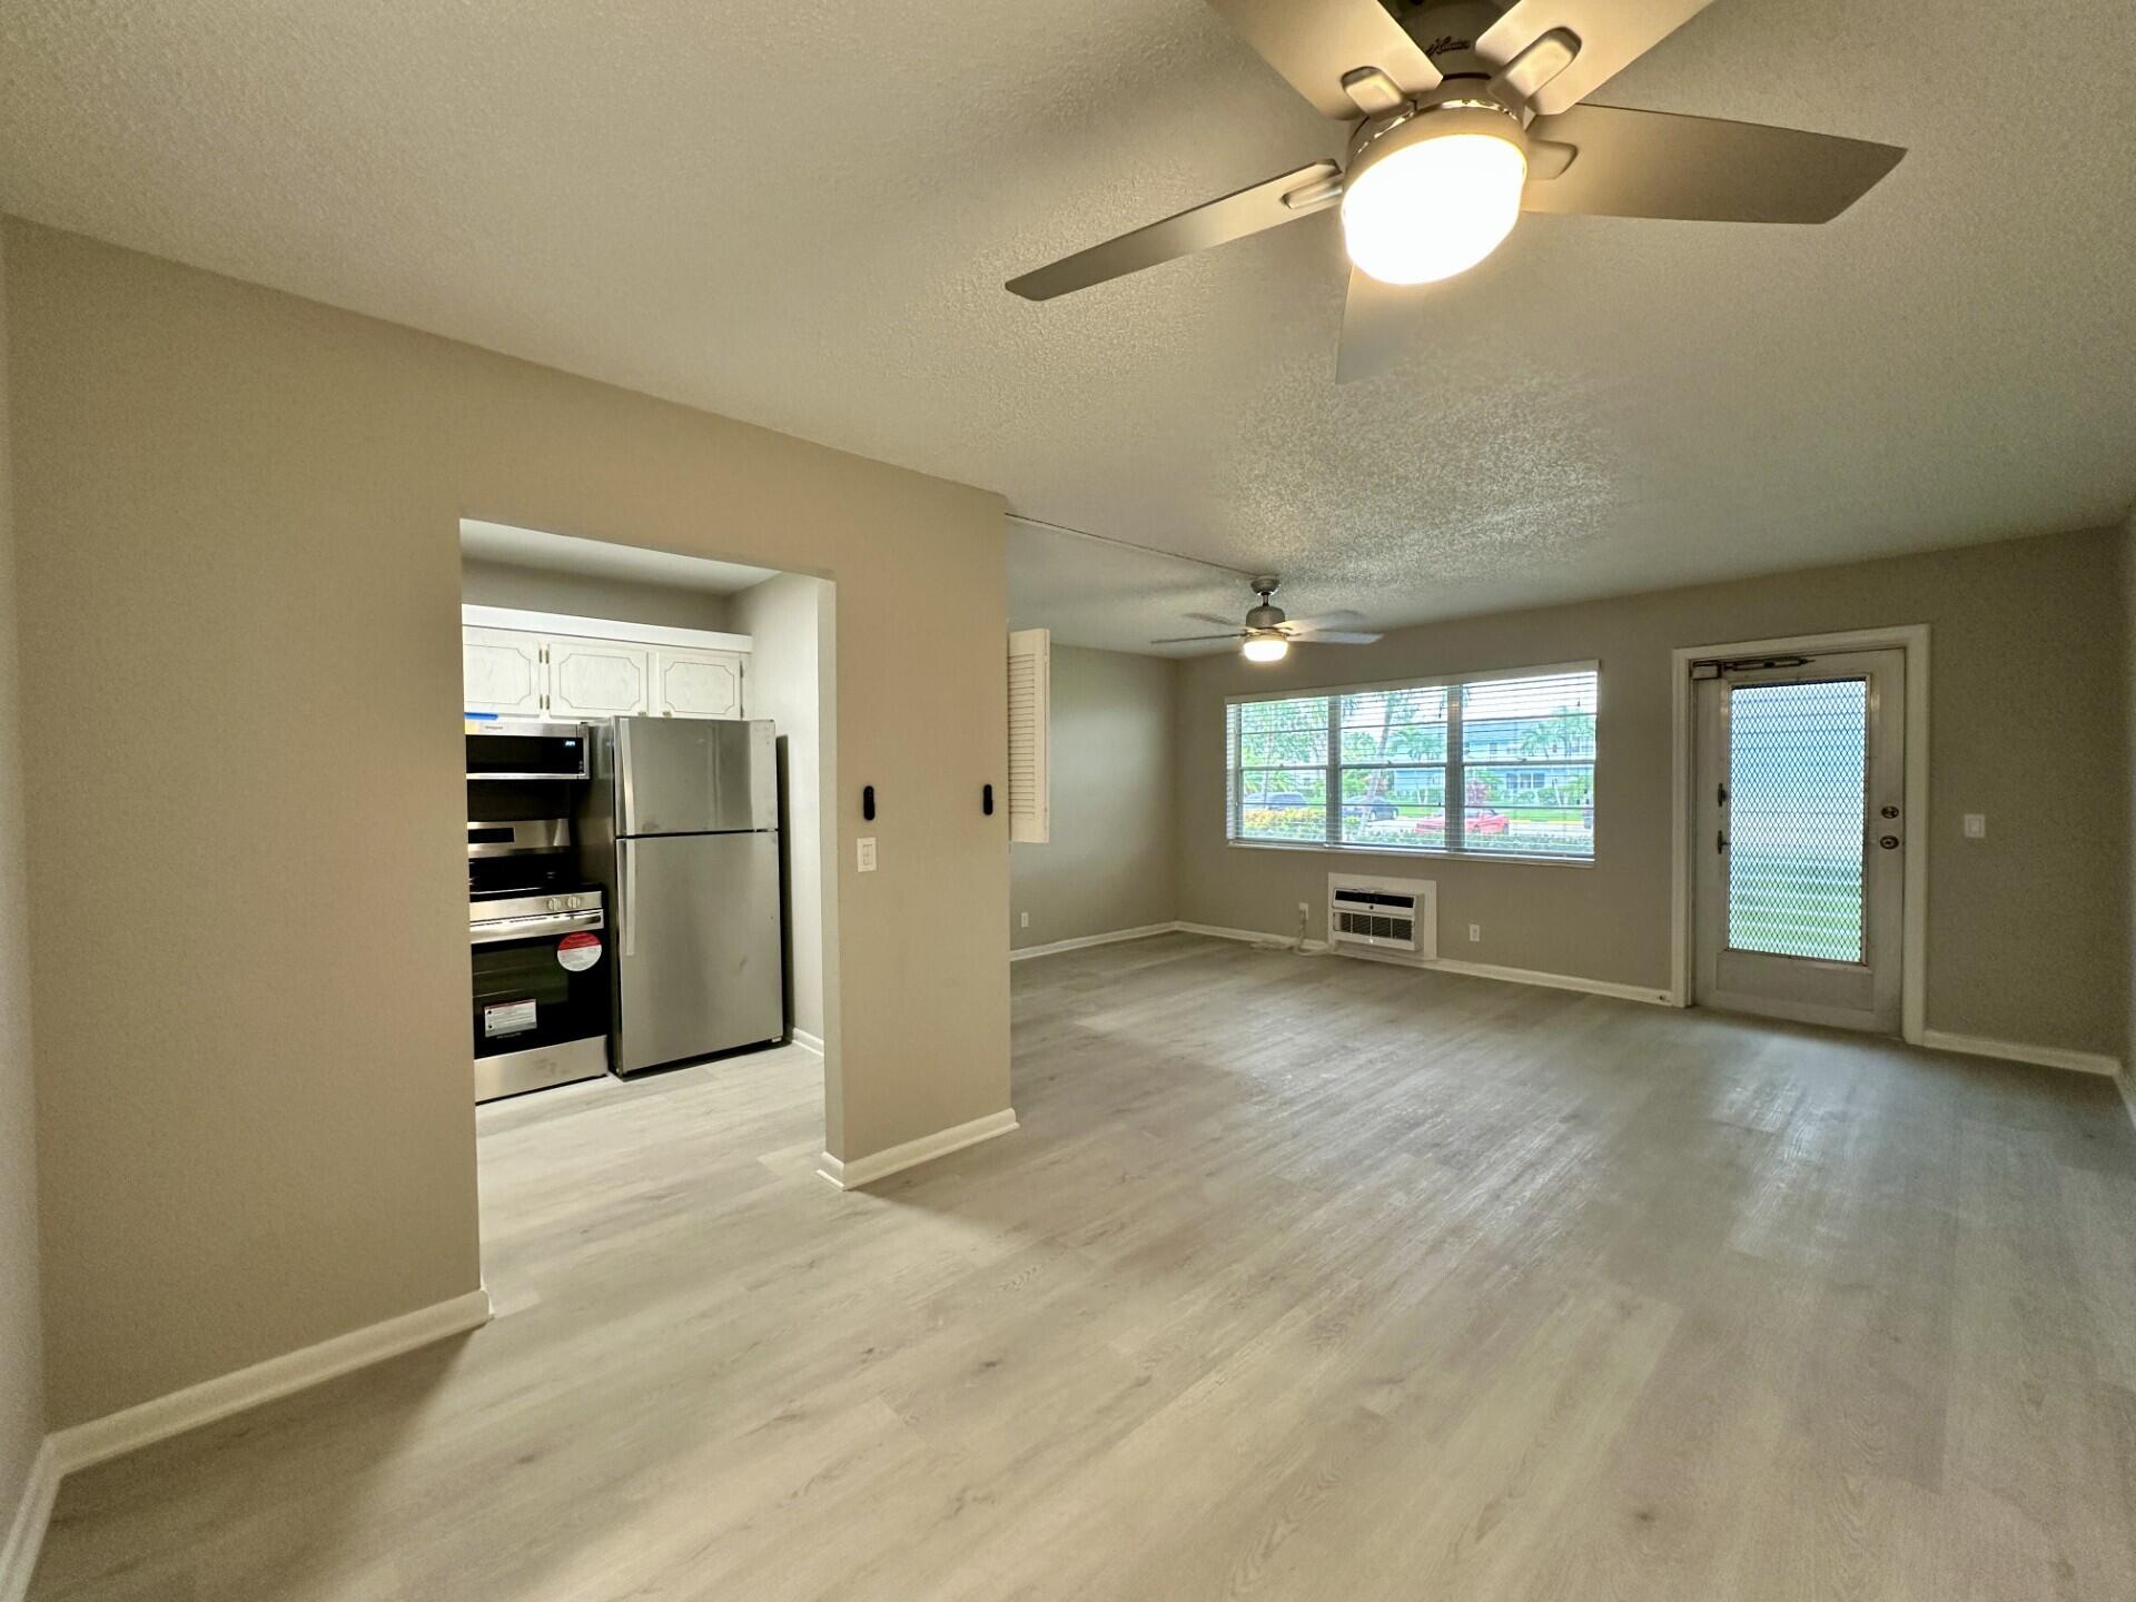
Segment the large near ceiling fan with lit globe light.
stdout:
<path fill-rule="evenodd" d="M 1299 167 L 1012 278 L 1049 301 L 1341 209 L 1350 252 L 1337 380 L 1401 348 L 1401 290 L 1452 278 L 1521 211 L 1831 222 L 1897 145 L 1583 105 L 1709 0 L 1209 0 L 1322 115 L 1348 160 Z"/>

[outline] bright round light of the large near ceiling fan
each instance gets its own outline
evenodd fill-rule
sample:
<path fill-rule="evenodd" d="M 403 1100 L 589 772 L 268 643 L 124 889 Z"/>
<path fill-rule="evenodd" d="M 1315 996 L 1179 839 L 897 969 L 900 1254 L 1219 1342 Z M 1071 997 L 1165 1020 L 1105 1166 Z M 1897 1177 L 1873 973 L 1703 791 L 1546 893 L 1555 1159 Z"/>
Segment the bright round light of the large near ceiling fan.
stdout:
<path fill-rule="evenodd" d="M 1442 105 L 1367 139 L 1350 162 L 1341 233 L 1382 284 L 1465 273 L 1521 220 L 1527 135 L 1491 105 Z"/>

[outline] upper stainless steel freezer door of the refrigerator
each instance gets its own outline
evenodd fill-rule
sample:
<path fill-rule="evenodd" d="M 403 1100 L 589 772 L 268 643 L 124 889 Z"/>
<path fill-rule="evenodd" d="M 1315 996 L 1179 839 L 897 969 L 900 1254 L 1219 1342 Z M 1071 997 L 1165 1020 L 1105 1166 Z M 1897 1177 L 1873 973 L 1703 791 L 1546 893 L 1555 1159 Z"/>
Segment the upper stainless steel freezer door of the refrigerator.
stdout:
<path fill-rule="evenodd" d="M 767 720 L 617 718 L 615 833 L 694 835 L 778 827 Z"/>

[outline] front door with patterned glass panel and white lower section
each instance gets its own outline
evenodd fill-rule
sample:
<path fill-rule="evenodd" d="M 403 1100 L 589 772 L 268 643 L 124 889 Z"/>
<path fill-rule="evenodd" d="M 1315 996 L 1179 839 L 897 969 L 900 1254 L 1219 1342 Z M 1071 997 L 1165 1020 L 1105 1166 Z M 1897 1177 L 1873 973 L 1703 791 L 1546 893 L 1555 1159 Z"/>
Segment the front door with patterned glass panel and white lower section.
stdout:
<path fill-rule="evenodd" d="M 1694 1000 L 1899 1034 L 1905 651 L 1700 664 Z"/>

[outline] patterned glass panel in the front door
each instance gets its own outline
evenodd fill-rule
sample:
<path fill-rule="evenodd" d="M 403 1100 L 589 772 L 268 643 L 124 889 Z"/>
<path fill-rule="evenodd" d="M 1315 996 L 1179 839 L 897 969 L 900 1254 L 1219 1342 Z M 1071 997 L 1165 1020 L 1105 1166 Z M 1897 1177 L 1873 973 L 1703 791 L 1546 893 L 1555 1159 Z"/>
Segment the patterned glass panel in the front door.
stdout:
<path fill-rule="evenodd" d="M 1863 961 L 1865 679 L 1728 696 L 1728 944 Z"/>

